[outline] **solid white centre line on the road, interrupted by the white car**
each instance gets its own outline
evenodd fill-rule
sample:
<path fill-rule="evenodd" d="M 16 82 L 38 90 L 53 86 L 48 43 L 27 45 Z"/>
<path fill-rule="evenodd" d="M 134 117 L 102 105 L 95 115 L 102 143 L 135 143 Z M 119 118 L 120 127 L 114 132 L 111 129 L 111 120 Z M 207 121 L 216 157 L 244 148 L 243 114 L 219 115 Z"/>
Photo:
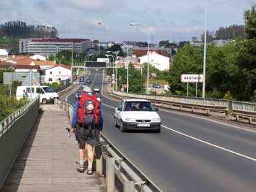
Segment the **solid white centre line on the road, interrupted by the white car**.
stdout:
<path fill-rule="evenodd" d="M 104 106 L 106 106 L 106 107 L 110 107 L 110 108 L 112 108 L 112 109 L 115 109 L 115 107 L 112 107 L 112 106 L 110 106 L 110 105 L 108 105 L 108 104 L 102 104 L 102 105 L 104 105 Z M 182 133 L 182 132 L 180 132 L 180 131 L 176 131 L 176 130 L 174 130 L 173 128 L 169 128 L 169 127 L 163 126 L 163 125 L 161 125 L 161 126 L 162 126 L 163 128 L 166 128 L 166 129 L 169 130 L 169 131 L 173 131 L 173 132 L 176 132 L 177 134 L 181 134 L 181 135 L 184 136 L 184 137 L 189 137 L 190 139 L 194 139 L 194 140 L 196 140 L 197 142 L 202 142 L 202 143 L 204 143 L 204 144 L 206 144 L 206 145 L 210 145 L 211 147 L 216 147 L 216 148 L 218 148 L 218 149 L 220 149 L 220 150 L 225 150 L 226 152 L 233 153 L 233 154 L 235 154 L 235 155 L 238 155 L 238 156 L 247 158 L 247 159 L 249 159 L 249 160 L 251 160 L 251 161 L 256 161 L 256 158 L 252 158 L 252 157 L 249 157 L 249 156 L 247 156 L 247 155 L 244 155 L 244 154 L 241 154 L 241 153 L 237 153 L 237 152 L 235 152 L 235 151 L 233 151 L 233 150 L 229 150 L 229 149 L 227 149 L 227 148 L 225 148 L 225 147 L 220 147 L 220 146 L 214 145 L 214 144 L 212 144 L 212 143 L 210 143 L 210 142 L 203 141 L 202 139 L 198 139 L 198 138 L 196 138 L 196 137 L 189 136 L 188 134 L 184 134 L 184 133 Z"/>

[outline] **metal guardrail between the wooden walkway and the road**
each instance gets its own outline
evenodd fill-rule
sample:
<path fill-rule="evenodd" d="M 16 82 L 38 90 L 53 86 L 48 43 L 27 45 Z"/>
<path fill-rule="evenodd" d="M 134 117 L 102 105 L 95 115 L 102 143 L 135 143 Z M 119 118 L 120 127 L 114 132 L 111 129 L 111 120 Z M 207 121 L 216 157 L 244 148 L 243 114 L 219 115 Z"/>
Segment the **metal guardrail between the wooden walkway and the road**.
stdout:
<path fill-rule="evenodd" d="M 69 112 L 72 120 L 73 105 L 65 101 L 56 99 L 54 102 L 59 108 Z M 157 185 L 146 177 L 146 174 L 140 171 L 127 158 L 118 147 L 113 145 L 107 137 L 102 135 L 100 138 L 102 146 L 94 147 L 96 154 L 96 172 L 99 176 L 106 178 L 106 188 L 108 192 L 115 191 L 115 175 L 123 185 L 123 191 L 161 191 Z M 104 159 L 104 161 L 103 161 Z M 105 168 L 105 169 L 104 169 Z M 105 175 L 104 175 L 105 173 Z"/>

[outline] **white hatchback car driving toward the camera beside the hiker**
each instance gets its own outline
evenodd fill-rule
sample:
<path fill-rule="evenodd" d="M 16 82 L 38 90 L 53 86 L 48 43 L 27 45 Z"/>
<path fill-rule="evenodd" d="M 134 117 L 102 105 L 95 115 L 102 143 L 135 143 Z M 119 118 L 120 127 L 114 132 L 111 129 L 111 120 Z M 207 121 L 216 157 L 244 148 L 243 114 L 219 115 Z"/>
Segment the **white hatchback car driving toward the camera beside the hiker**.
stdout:
<path fill-rule="evenodd" d="M 161 131 L 161 118 L 151 102 L 145 99 L 123 99 L 115 110 L 115 126 L 120 131 L 151 130 Z"/>

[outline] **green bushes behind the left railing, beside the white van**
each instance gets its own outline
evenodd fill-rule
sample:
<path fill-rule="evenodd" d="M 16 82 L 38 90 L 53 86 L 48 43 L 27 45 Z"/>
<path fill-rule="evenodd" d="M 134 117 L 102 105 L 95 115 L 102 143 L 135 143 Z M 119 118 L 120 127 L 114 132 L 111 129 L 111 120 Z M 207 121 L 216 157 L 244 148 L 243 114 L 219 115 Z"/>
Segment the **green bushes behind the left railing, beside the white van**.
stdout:
<path fill-rule="evenodd" d="M 9 85 L 0 84 L 0 121 L 29 102 L 26 99 L 17 101 L 16 89 L 19 85 L 21 85 L 20 82 L 12 82 L 12 96 L 10 97 Z"/>

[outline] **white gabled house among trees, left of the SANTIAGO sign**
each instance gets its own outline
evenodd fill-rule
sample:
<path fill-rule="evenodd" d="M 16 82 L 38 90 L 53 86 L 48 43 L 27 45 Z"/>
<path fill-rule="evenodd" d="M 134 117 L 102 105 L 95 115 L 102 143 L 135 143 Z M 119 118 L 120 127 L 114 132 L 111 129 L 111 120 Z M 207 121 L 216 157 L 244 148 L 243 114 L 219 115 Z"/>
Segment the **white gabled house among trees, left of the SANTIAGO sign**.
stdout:
<path fill-rule="evenodd" d="M 148 55 L 143 55 L 138 57 L 138 63 L 144 64 L 148 63 Z M 155 66 L 160 71 L 170 69 L 170 58 L 160 55 L 158 53 L 152 52 L 149 54 L 149 64 Z"/>

